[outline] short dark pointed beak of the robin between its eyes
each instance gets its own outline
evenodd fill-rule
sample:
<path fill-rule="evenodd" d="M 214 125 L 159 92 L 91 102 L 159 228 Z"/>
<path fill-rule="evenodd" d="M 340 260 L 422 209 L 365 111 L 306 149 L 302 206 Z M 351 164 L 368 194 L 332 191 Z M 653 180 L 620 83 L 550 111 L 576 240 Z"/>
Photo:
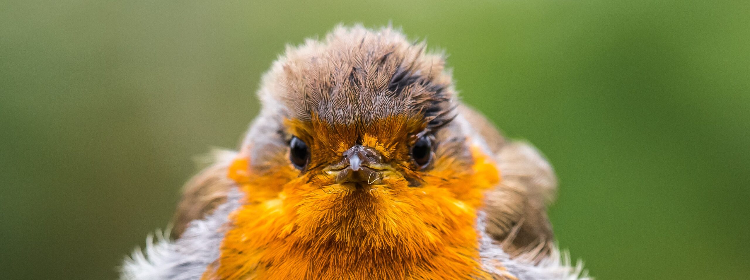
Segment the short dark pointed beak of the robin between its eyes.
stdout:
<path fill-rule="evenodd" d="M 341 154 L 341 161 L 326 167 L 326 173 L 335 177 L 338 184 L 351 182 L 357 185 L 377 185 L 383 182 L 383 156 L 370 147 L 355 145 Z"/>

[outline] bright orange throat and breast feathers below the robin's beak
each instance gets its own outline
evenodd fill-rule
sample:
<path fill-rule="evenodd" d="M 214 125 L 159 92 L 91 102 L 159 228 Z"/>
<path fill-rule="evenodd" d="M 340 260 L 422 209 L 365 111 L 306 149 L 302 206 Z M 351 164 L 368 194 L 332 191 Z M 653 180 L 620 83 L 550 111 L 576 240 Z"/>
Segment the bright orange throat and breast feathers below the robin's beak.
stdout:
<path fill-rule="evenodd" d="M 221 255 L 203 278 L 489 279 L 474 224 L 481 191 L 497 182 L 489 171 L 467 174 L 458 187 L 398 181 L 368 191 L 311 191 L 302 180 L 287 184 L 275 199 L 233 213 Z M 251 196 L 254 186 L 244 189 Z"/>

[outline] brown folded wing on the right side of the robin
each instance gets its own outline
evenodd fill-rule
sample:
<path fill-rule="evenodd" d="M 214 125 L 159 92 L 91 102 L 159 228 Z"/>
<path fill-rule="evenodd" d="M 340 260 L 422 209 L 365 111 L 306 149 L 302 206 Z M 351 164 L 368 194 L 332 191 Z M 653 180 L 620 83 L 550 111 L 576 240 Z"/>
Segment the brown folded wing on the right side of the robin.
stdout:
<path fill-rule="evenodd" d="M 552 167 L 528 143 L 506 140 L 481 113 L 466 106 L 460 110 L 496 156 L 502 176 L 486 194 L 487 233 L 509 254 L 549 254 L 553 233 L 547 203 L 557 188 Z"/>

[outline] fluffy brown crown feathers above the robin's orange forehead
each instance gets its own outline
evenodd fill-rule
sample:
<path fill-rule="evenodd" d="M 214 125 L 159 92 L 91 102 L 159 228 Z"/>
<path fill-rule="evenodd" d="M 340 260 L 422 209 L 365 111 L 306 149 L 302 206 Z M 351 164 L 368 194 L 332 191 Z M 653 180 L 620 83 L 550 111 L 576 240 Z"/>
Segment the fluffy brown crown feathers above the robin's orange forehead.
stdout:
<path fill-rule="evenodd" d="M 446 72 L 443 55 L 426 53 L 424 42 L 390 28 L 338 27 L 323 41 L 287 47 L 263 77 L 260 98 L 289 119 L 350 124 L 422 115 L 437 128 L 455 109 Z"/>

